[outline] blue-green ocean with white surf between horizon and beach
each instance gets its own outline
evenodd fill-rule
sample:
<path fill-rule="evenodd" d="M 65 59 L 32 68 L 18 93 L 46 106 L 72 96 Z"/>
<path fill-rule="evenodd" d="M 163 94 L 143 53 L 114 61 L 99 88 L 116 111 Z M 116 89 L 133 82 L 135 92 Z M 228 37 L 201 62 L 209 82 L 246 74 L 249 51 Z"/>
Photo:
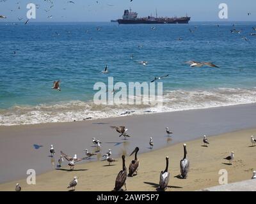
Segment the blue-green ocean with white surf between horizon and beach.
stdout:
<path fill-rule="evenodd" d="M 111 22 L 0 22 L 0 125 L 255 103 L 255 25 L 190 22 L 152 29 Z M 241 32 L 230 32 L 234 27 Z M 220 68 L 191 68 L 185 62 L 192 60 L 214 62 Z M 106 64 L 109 73 L 102 74 Z M 108 84 L 108 77 L 114 83 L 149 83 L 167 74 L 161 80 L 161 110 L 93 103 L 93 85 Z M 61 80 L 61 91 L 51 89 L 54 80 Z"/>

